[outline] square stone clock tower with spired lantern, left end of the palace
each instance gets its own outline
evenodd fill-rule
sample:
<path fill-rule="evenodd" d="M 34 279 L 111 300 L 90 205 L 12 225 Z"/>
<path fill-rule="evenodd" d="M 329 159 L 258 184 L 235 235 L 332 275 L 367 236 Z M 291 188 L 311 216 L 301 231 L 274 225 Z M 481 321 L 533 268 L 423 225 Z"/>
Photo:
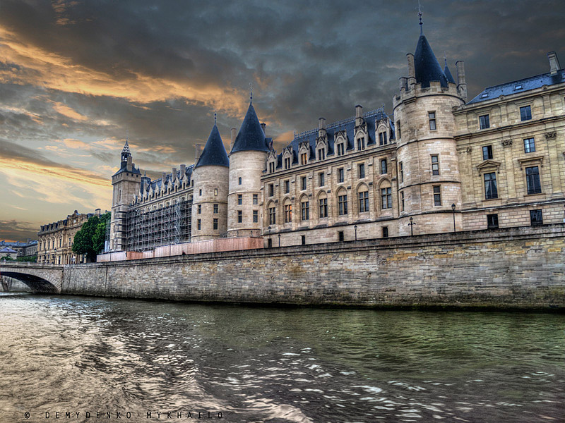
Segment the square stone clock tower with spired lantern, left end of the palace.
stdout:
<path fill-rule="evenodd" d="M 112 176 L 112 216 L 110 218 L 110 250 L 127 249 L 126 215 L 129 204 L 140 190 L 141 172 L 133 164 L 128 140 L 121 151 L 119 171 Z"/>

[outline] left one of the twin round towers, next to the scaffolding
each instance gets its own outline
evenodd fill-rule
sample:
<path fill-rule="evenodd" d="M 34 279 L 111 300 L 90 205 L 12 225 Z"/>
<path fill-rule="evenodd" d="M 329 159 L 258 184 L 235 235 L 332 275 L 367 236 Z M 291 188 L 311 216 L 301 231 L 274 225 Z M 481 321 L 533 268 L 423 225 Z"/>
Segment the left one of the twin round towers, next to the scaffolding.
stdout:
<path fill-rule="evenodd" d="M 208 141 L 193 172 L 191 241 L 225 236 L 230 161 L 214 122 Z"/>

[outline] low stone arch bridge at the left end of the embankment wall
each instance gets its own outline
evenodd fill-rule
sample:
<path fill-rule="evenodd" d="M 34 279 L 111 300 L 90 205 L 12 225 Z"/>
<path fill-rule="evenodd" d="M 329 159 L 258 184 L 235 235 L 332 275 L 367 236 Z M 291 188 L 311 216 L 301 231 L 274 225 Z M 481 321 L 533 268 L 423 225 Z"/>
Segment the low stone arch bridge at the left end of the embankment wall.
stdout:
<path fill-rule="evenodd" d="M 60 293 L 63 266 L 60 264 L 0 262 L 0 276 L 17 279 L 35 293 Z"/>

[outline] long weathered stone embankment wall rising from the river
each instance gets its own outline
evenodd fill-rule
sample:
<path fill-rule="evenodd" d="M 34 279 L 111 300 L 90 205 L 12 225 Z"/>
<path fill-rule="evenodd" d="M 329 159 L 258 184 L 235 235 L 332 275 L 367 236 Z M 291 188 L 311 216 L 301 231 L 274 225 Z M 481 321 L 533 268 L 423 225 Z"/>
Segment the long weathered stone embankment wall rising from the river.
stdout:
<path fill-rule="evenodd" d="M 66 266 L 62 292 L 309 305 L 565 309 L 565 225 Z"/>

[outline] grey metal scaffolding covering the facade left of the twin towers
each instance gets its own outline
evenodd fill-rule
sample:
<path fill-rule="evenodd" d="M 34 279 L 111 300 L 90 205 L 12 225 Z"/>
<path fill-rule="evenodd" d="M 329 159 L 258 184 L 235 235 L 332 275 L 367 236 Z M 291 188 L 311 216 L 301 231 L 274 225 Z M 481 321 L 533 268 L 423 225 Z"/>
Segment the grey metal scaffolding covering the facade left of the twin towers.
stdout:
<path fill-rule="evenodd" d="M 126 217 L 127 250 L 147 251 L 161 245 L 189 243 L 191 220 L 192 200 L 145 213 L 130 209 Z"/>

